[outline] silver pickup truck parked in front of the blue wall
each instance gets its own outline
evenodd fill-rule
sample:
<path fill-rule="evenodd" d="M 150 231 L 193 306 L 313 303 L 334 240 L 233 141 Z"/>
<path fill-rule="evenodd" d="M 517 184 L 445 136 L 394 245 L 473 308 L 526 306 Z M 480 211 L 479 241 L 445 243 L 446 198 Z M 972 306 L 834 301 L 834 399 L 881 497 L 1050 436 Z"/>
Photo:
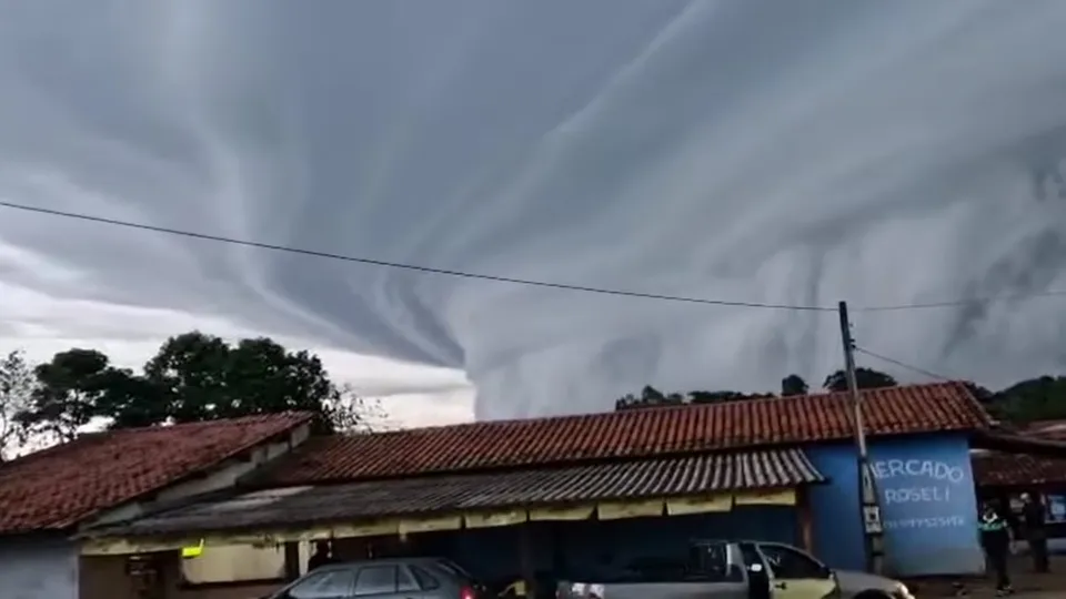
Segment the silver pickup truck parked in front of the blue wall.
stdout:
<path fill-rule="evenodd" d="M 914 599 L 897 580 L 832 570 L 795 547 L 697 541 L 687 564 L 628 568 L 596 581 L 562 581 L 559 599 Z"/>

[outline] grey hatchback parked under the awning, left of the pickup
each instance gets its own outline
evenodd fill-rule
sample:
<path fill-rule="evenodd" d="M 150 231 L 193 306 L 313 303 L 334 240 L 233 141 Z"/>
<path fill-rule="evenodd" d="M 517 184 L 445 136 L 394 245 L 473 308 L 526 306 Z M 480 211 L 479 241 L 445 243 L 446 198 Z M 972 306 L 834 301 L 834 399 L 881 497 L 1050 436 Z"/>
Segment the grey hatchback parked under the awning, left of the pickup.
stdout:
<path fill-rule="evenodd" d="M 264 599 L 485 599 L 485 590 L 443 558 L 395 558 L 330 564 Z"/>

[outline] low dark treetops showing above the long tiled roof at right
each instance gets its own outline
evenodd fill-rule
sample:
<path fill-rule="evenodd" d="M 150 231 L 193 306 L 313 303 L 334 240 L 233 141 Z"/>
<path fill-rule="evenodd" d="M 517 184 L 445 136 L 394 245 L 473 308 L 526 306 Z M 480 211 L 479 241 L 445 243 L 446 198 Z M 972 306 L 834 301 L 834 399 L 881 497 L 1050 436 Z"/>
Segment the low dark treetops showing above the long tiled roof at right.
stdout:
<path fill-rule="evenodd" d="M 873 368 L 856 368 L 855 379 L 861 389 L 894 387 L 898 385 L 891 375 Z M 1034 420 L 1066 418 L 1066 377 L 1040 376 L 1019 380 L 1004 389 L 990 390 L 974 383 L 966 383 L 974 397 L 1000 420 L 1025 424 Z M 812 390 L 800 375 L 788 375 L 781 379 L 778 392 L 741 393 L 735 390 L 693 390 L 687 393 L 664 393 L 652 386 L 645 386 L 640 394 L 627 394 L 615 400 L 614 408 L 633 409 L 655 406 L 677 406 L 684 404 L 714 404 L 755 399 L 763 397 L 791 397 L 809 393 L 847 390 L 847 376 L 837 370 L 822 382 L 821 389 Z"/>

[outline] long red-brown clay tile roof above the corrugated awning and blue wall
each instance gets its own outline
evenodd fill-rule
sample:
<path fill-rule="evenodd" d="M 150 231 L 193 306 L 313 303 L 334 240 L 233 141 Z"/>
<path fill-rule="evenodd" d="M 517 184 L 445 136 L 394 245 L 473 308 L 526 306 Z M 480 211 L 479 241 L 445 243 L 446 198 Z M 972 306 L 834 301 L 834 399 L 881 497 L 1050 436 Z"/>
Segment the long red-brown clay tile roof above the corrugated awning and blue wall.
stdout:
<path fill-rule="evenodd" d="M 990 419 L 959 383 L 863 393 L 869 435 L 985 428 Z M 485 468 L 846 439 L 847 394 L 484 422 L 312 439 L 264 474 L 263 485 L 349 481 Z"/>

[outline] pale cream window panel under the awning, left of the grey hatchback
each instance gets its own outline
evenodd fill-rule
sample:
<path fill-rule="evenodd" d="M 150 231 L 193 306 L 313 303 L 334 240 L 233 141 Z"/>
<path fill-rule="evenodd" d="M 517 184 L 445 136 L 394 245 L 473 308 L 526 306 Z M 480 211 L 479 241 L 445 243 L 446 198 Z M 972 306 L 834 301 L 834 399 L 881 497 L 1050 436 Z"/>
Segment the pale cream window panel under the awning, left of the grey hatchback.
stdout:
<path fill-rule="evenodd" d="M 189 585 L 283 580 L 283 547 L 208 546 L 200 557 L 181 560 L 181 578 Z"/>

